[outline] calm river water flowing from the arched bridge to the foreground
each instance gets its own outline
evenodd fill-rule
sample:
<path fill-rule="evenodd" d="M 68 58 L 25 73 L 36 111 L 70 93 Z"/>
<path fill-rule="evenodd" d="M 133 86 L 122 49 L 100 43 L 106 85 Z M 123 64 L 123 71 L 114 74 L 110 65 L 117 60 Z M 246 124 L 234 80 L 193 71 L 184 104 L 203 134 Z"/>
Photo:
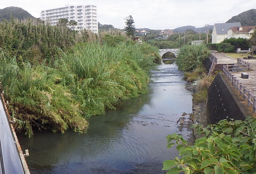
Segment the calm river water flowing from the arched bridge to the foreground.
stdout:
<path fill-rule="evenodd" d="M 163 174 L 162 163 L 178 156 L 167 149 L 166 136 L 192 131 L 177 120 L 192 112 L 192 94 L 185 89 L 177 65 L 159 65 L 148 94 L 123 101 L 116 110 L 91 117 L 86 134 L 34 132 L 18 134 L 32 174 Z"/>

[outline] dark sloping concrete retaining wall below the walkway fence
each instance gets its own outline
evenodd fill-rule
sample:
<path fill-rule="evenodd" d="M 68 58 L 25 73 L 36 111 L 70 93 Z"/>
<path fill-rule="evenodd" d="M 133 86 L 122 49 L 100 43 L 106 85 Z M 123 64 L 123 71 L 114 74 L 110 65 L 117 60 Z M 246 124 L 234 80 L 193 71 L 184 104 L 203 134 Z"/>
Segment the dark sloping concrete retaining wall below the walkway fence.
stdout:
<path fill-rule="evenodd" d="M 218 73 L 208 89 L 206 105 L 208 124 L 215 124 L 223 119 L 245 120 L 250 113 L 241 101 L 225 76 Z"/>

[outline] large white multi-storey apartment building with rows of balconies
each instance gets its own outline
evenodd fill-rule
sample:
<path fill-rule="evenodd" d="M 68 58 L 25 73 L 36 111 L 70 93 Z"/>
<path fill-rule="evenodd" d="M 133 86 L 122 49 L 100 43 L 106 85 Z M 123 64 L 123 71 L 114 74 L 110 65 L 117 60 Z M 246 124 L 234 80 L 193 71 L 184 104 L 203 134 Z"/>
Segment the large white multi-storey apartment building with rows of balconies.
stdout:
<path fill-rule="evenodd" d="M 69 26 L 72 29 L 98 33 L 97 7 L 94 5 L 66 5 L 41 11 L 41 20 L 52 26 L 57 25 L 61 18 L 76 21 L 76 26 Z"/>

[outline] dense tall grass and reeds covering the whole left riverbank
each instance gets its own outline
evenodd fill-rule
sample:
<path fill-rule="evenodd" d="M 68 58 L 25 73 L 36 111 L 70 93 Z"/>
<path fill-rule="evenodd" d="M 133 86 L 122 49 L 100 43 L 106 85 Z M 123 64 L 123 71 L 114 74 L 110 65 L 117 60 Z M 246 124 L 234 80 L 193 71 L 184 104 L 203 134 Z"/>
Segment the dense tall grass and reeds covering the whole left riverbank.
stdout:
<path fill-rule="evenodd" d="M 16 127 L 85 132 L 87 118 L 147 92 L 158 49 L 119 32 L 78 33 L 35 21 L 0 23 L 0 81 Z"/>

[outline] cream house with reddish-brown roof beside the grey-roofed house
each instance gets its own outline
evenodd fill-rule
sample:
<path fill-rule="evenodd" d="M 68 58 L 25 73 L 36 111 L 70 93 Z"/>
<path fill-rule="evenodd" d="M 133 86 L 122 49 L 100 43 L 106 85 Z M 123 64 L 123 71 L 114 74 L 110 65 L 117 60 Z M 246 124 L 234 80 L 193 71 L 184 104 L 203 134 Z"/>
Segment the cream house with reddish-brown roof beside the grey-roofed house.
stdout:
<path fill-rule="evenodd" d="M 250 39 L 252 33 L 255 31 L 256 26 L 240 26 L 240 27 L 232 27 L 227 31 L 227 39 L 233 38 L 244 38 Z"/>

